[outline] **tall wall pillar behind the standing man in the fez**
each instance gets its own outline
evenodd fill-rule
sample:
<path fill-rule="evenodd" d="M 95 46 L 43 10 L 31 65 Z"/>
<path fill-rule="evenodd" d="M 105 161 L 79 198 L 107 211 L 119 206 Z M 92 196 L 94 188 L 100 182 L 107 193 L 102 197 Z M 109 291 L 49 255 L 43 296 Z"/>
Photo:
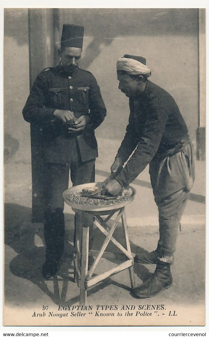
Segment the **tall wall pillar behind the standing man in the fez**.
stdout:
<path fill-rule="evenodd" d="M 30 88 L 40 71 L 55 65 L 55 15 L 56 9 L 32 8 L 28 10 Z M 57 18 L 56 18 L 57 19 Z M 32 221 L 42 222 L 44 212 L 44 160 L 43 135 L 31 123 L 32 162 Z"/>

